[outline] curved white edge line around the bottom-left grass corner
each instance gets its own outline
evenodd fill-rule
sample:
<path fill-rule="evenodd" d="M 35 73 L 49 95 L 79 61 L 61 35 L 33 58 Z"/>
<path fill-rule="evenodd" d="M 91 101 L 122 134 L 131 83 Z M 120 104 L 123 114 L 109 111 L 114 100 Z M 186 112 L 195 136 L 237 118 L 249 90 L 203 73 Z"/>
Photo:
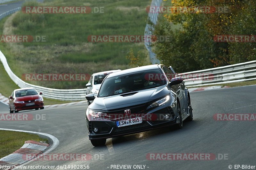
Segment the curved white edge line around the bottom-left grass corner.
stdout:
<path fill-rule="evenodd" d="M 0 130 L 9 130 L 9 131 L 16 131 L 16 132 L 26 132 L 26 133 L 34 133 L 34 134 L 37 134 L 37 135 L 43 135 L 43 136 L 46 136 L 46 137 L 49 137 L 50 139 L 52 139 L 52 146 L 47 150 L 45 151 L 44 153 L 49 153 L 51 152 L 52 150 L 54 150 L 59 144 L 60 144 L 60 141 L 57 137 L 55 136 L 52 136 L 50 134 L 47 134 L 47 133 L 41 133 L 41 132 L 33 132 L 33 131 L 27 131 L 27 130 L 16 130 L 16 129 L 4 129 L 4 128 L 0 128 Z M 25 162 L 24 164 L 21 164 L 21 165 L 26 165 L 30 162 L 32 162 L 32 160 L 28 161 L 28 162 Z M 16 168 L 15 168 L 16 169 Z"/>

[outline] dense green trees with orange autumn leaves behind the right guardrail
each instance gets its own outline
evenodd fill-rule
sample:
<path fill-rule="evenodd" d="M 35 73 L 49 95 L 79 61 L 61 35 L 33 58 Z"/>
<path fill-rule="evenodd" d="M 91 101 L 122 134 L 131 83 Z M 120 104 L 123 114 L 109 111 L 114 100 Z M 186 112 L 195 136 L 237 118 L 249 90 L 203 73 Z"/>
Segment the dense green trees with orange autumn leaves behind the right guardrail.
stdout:
<path fill-rule="evenodd" d="M 166 0 L 165 6 L 209 7 L 210 12 L 172 10 L 159 15 L 154 35 L 172 41 L 152 44 L 158 59 L 177 72 L 256 60 L 256 42 L 216 42 L 217 35 L 256 35 L 254 0 Z"/>

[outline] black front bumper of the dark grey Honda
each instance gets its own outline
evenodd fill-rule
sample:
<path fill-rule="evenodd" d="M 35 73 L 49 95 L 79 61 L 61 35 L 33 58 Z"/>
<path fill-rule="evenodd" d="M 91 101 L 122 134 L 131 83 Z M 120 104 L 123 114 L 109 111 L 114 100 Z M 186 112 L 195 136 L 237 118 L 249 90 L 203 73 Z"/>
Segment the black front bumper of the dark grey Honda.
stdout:
<path fill-rule="evenodd" d="M 118 120 L 111 121 L 104 118 L 91 119 L 90 115 L 88 115 L 86 116 L 86 124 L 89 131 L 89 139 L 103 139 L 129 135 L 177 124 L 178 114 L 176 109 L 176 107 L 172 108 L 170 106 L 160 106 L 146 114 L 138 115 L 137 117 L 142 117 L 142 123 L 123 127 L 116 126 L 116 121 Z M 164 119 L 164 115 L 166 114 L 169 114 L 171 118 L 167 120 Z M 126 119 L 129 118 L 122 118 L 122 120 Z M 92 130 L 94 127 L 99 129 L 97 133 Z"/>

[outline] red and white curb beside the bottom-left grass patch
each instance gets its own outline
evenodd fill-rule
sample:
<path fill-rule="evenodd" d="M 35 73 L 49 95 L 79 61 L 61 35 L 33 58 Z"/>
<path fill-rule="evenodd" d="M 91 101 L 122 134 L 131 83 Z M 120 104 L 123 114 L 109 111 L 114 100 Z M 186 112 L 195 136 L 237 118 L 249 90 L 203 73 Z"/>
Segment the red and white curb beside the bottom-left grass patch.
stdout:
<path fill-rule="evenodd" d="M 23 164 L 31 159 L 27 160 L 27 155 L 37 156 L 43 153 L 50 145 L 35 141 L 25 141 L 25 144 L 17 151 L 11 153 L 10 155 L 5 156 L 4 158 L 0 159 L 0 170 L 4 170 L 1 167 L 13 169 L 15 166 Z"/>

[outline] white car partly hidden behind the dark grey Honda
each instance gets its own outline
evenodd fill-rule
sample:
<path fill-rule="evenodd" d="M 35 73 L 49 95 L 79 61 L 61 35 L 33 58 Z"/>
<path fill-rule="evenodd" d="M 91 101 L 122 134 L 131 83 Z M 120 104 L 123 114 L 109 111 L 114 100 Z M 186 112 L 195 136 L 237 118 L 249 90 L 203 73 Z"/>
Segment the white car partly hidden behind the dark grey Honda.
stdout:
<path fill-rule="evenodd" d="M 121 70 L 109 70 L 109 71 L 102 71 L 102 72 L 98 72 L 98 73 L 93 73 L 92 76 L 89 79 L 89 82 L 85 85 L 87 87 L 86 93 L 87 94 L 91 94 L 93 93 L 94 96 L 96 97 L 99 89 L 100 89 L 100 85 L 103 81 L 103 79 L 110 73 L 114 73 L 117 71 L 121 71 Z M 92 103 L 92 101 L 87 101 L 88 105 L 90 105 Z"/>

